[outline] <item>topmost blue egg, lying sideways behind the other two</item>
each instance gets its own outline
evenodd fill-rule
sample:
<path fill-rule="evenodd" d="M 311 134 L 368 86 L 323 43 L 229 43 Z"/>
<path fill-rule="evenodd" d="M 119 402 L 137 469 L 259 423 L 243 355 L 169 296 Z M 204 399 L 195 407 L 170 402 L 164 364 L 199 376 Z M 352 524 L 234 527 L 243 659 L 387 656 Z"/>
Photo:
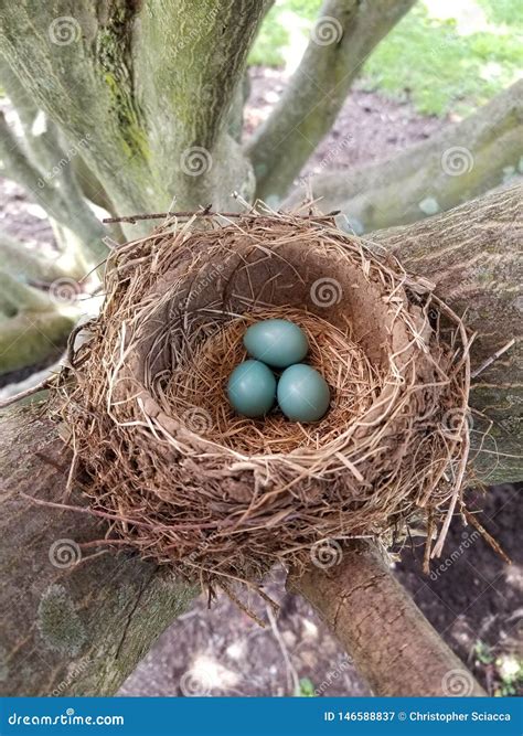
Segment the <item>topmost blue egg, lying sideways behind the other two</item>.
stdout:
<path fill-rule="evenodd" d="M 263 320 L 252 324 L 244 335 L 248 354 L 275 367 L 299 363 L 307 355 L 306 333 L 289 320 Z"/>

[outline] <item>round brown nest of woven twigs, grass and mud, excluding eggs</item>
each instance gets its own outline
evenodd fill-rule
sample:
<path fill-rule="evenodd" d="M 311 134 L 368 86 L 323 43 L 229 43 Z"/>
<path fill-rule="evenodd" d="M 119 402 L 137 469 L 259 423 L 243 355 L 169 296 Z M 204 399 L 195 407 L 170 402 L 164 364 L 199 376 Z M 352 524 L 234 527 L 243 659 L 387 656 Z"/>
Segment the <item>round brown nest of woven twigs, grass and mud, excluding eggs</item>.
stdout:
<path fill-rule="evenodd" d="M 310 555 L 327 567 L 343 540 L 389 546 L 413 526 L 441 546 L 467 459 L 469 363 L 428 281 L 332 218 L 262 212 L 172 218 L 111 254 L 105 287 L 61 393 L 111 537 L 209 586 Z M 306 331 L 330 385 L 316 424 L 238 417 L 227 402 L 245 329 L 270 317 Z"/>

